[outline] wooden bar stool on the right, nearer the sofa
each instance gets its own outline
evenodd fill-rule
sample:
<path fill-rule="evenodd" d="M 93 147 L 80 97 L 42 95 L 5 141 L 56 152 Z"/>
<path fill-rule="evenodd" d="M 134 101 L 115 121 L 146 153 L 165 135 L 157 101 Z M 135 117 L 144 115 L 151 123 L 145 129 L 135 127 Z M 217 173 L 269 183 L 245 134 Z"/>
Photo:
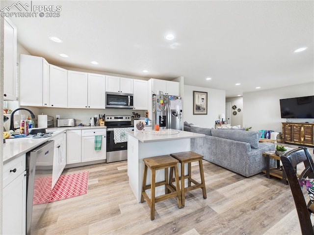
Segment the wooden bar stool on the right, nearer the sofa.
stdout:
<path fill-rule="evenodd" d="M 207 198 L 206 194 L 206 186 L 205 186 L 205 179 L 204 179 L 204 170 L 203 170 L 203 162 L 202 157 L 203 155 L 194 153 L 194 152 L 182 152 L 182 153 L 175 153 L 170 154 L 171 157 L 174 157 L 179 160 L 181 163 L 181 198 L 182 198 L 182 206 L 184 207 L 184 194 L 185 192 L 202 188 L 203 190 L 203 198 Z M 200 168 L 200 175 L 201 175 L 201 183 L 195 181 L 192 179 L 191 176 L 191 162 L 198 161 L 199 168 Z M 188 164 L 187 166 L 187 175 L 184 173 L 184 165 L 185 163 Z M 184 185 L 184 180 L 187 179 L 187 187 Z M 173 182 L 173 171 L 170 169 L 170 177 L 169 177 L 169 184 L 171 185 L 173 190 L 176 190 L 176 187 L 172 184 Z M 194 185 L 191 185 L 191 182 L 194 183 Z"/>

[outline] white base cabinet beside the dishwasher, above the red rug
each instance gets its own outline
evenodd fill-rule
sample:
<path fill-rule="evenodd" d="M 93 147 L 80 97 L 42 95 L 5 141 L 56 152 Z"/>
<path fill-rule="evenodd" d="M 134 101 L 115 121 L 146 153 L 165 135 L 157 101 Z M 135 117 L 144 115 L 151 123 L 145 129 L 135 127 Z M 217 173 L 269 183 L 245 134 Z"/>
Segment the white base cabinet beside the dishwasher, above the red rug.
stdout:
<path fill-rule="evenodd" d="M 53 149 L 53 167 L 52 167 L 52 188 L 59 179 L 65 165 L 66 154 L 64 153 L 64 133 L 60 133 L 53 137 L 54 149 Z"/>

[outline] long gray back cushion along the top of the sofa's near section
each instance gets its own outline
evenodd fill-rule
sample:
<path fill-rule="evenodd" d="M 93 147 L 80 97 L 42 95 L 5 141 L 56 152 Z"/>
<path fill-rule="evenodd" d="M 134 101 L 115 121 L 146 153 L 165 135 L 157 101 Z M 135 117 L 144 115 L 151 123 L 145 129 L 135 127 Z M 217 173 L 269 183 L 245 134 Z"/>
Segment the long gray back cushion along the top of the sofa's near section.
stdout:
<path fill-rule="evenodd" d="M 259 148 L 260 133 L 257 131 L 238 131 L 238 130 L 211 130 L 211 135 L 224 139 L 246 142 L 251 148 Z"/>

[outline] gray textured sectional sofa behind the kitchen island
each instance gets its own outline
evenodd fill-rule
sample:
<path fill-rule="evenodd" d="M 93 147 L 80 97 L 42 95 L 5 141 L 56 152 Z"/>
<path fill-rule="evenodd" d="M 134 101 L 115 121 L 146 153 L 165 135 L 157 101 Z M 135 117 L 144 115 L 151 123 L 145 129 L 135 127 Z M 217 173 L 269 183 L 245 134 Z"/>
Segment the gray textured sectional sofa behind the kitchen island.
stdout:
<path fill-rule="evenodd" d="M 261 173 L 266 166 L 262 153 L 275 150 L 273 143 L 259 143 L 261 135 L 256 131 L 216 130 L 196 126 L 190 126 L 190 131 L 206 135 L 191 139 L 191 151 L 245 177 Z M 271 166 L 275 164 L 274 161 L 270 163 Z"/>

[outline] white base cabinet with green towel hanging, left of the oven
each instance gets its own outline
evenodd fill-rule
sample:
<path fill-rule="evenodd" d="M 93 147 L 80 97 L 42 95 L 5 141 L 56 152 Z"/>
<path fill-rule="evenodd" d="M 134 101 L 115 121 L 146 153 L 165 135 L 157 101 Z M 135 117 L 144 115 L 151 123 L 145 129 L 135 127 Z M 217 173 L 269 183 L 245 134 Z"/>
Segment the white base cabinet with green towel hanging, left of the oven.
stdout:
<path fill-rule="evenodd" d="M 102 136 L 101 150 L 95 150 L 95 136 Z M 106 159 L 106 129 L 82 130 L 81 162 Z"/>

